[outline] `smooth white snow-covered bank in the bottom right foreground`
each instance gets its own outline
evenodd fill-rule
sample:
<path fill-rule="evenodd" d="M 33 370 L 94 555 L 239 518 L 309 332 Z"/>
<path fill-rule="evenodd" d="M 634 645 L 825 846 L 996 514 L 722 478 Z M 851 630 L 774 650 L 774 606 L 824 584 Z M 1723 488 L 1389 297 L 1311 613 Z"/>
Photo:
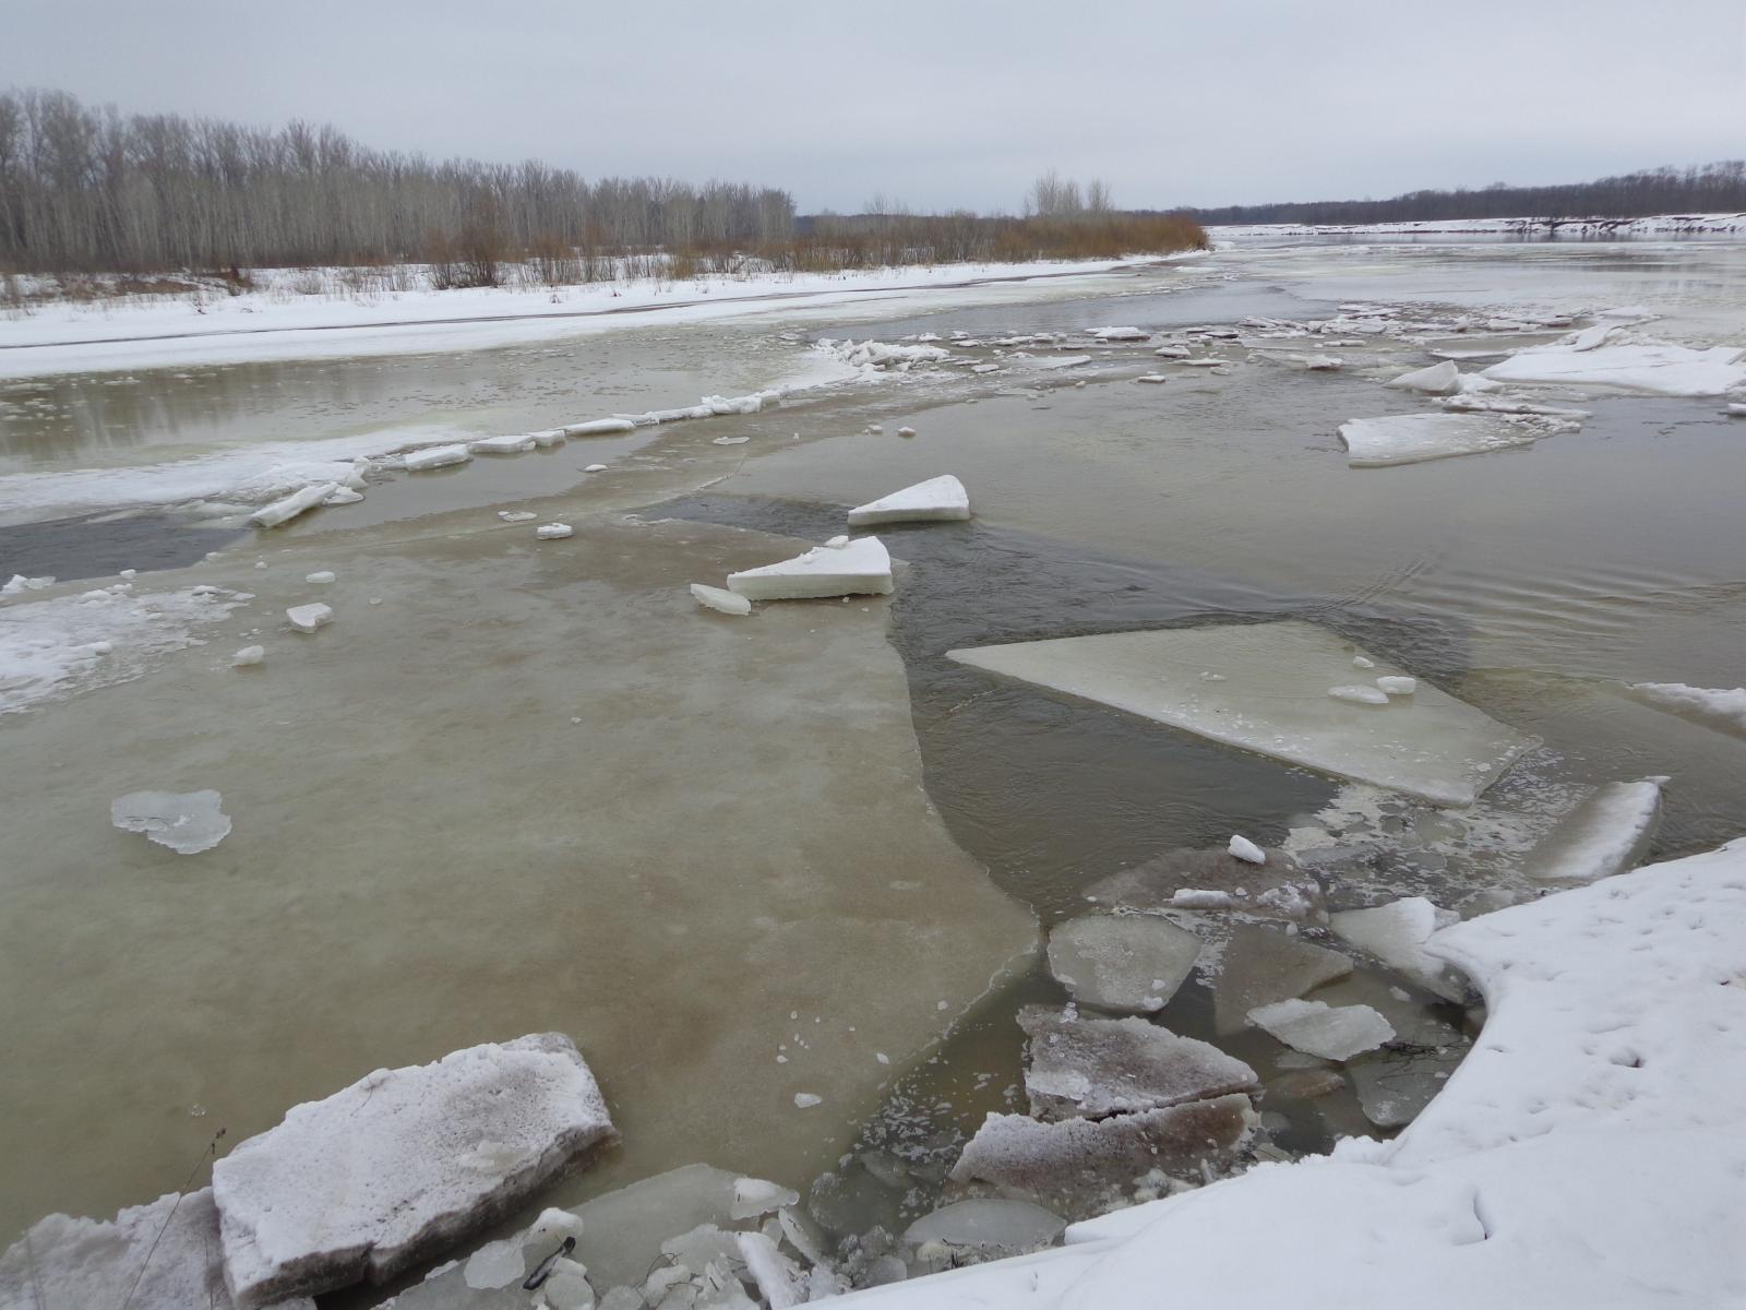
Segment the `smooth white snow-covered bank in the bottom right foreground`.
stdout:
<path fill-rule="evenodd" d="M 1746 838 L 1447 927 L 1489 1006 L 1392 1142 L 1261 1165 L 857 1308 L 1739 1307 Z"/>

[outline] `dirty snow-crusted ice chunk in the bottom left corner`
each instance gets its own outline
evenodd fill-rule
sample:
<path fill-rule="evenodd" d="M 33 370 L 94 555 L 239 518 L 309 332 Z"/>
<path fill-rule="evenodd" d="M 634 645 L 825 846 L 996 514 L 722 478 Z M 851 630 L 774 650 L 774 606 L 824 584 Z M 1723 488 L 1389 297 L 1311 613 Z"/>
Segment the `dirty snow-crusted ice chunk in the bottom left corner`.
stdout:
<path fill-rule="evenodd" d="M 5 1310 L 230 1310 L 211 1188 L 131 1205 L 113 1219 L 51 1214 L 0 1256 Z M 278 1310 L 314 1310 L 281 1301 Z"/>

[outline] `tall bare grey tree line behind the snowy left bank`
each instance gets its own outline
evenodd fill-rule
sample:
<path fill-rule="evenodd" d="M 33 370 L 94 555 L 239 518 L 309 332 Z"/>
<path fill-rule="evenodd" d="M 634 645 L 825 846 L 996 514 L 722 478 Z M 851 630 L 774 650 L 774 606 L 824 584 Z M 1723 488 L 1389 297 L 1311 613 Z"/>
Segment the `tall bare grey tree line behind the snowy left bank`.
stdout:
<path fill-rule="evenodd" d="M 122 117 L 59 91 L 0 94 L 0 269 L 19 272 L 461 267 L 761 243 L 793 227 L 793 197 L 772 187 L 587 182 L 538 161 L 370 150 L 304 122 Z"/>

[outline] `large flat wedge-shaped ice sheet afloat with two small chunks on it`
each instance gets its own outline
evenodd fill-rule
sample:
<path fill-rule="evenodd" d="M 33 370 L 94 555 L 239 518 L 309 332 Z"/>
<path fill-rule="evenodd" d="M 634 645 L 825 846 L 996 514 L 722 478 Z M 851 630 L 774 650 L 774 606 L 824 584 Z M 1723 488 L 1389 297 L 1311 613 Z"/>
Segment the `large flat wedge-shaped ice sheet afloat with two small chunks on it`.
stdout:
<path fill-rule="evenodd" d="M 1327 688 L 1351 678 L 1353 653 L 1297 620 L 948 652 L 960 664 L 1439 805 L 1470 805 L 1528 748 L 1519 732 L 1425 681 L 1418 695 L 1386 706 L 1330 699 Z M 1371 658 L 1378 672 L 1400 672 Z"/>

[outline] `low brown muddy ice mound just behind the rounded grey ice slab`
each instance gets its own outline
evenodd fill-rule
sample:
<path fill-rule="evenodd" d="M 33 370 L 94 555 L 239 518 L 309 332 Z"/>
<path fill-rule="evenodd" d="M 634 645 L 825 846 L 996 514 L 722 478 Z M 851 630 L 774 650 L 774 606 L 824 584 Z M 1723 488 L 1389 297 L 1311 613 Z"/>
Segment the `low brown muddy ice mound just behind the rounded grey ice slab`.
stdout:
<path fill-rule="evenodd" d="M 1322 919 L 1322 887 L 1283 851 L 1250 865 L 1227 849 L 1166 851 L 1086 891 L 1086 900 L 1121 910 L 1241 910 L 1266 919 Z"/>

